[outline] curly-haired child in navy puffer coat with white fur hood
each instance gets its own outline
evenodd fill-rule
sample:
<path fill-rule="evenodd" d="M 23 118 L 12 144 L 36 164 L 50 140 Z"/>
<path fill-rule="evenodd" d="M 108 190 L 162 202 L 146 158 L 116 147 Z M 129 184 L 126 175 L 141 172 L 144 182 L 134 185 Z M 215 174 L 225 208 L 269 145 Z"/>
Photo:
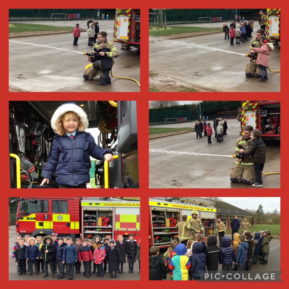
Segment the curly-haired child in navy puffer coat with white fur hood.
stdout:
<path fill-rule="evenodd" d="M 40 186 L 49 180 L 55 171 L 59 188 L 86 188 L 90 182 L 90 158 L 113 160 L 112 151 L 99 147 L 93 136 L 84 131 L 88 117 L 76 103 L 64 103 L 53 114 L 51 127 L 54 137 L 50 158 L 42 169 Z M 76 149 L 75 149 L 76 148 Z"/>

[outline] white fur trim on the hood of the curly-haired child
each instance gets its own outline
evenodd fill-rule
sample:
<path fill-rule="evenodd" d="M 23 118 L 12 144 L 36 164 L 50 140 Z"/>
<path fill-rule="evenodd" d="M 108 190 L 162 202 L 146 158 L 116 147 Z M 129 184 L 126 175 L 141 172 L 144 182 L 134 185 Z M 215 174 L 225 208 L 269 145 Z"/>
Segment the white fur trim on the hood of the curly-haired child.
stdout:
<path fill-rule="evenodd" d="M 87 117 L 86 112 L 82 108 L 80 108 L 75 102 L 68 102 L 68 103 L 63 103 L 62 105 L 60 105 L 60 107 L 57 110 L 55 110 L 51 118 L 51 127 L 54 131 L 56 129 L 57 121 L 60 120 L 63 114 L 69 111 L 72 111 L 79 116 L 80 121 L 84 127 L 84 130 L 88 128 L 89 123 L 88 123 L 88 117 Z"/>

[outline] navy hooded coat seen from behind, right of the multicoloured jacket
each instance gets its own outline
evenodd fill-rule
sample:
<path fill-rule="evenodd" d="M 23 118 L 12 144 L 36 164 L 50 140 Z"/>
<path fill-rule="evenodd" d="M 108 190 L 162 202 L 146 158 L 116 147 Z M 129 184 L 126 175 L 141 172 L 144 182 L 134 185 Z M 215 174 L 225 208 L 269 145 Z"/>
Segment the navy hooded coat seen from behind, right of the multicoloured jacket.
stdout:
<path fill-rule="evenodd" d="M 203 251 L 203 245 L 200 242 L 194 242 L 192 246 L 193 254 L 190 256 L 190 270 L 191 277 L 201 277 L 198 271 L 205 271 L 206 256 Z"/>

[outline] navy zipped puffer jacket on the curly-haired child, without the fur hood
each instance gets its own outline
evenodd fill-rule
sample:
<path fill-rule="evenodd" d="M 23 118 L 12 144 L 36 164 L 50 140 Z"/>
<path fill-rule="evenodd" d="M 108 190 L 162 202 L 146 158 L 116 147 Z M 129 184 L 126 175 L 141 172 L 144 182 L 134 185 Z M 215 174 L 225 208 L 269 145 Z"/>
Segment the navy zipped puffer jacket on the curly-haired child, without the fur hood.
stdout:
<path fill-rule="evenodd" d="M 86 131 L 77 131 L 73 140 L 67 135 L 57 135 L 41 177 L 51 179 L 55 172 L 56 182 L 60 185 L 78 186 L 89 183 L 89 156 L 104 160 L 105 153 L 112 151 L 98 146 L 93 136 Z"/>

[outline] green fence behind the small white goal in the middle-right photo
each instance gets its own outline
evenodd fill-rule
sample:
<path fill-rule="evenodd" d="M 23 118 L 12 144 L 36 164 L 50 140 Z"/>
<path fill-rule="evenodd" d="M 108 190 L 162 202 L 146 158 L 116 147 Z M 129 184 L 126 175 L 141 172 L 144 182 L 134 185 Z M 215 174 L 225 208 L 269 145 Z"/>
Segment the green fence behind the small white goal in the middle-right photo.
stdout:
<path fill-rule="evenodd" d="M 164 123 L 176 123 L 196 121 L 200 118 L 199 110 L 164 110 L 164 111 L 149 111 L 149 125 L 158 125 Z"/>

